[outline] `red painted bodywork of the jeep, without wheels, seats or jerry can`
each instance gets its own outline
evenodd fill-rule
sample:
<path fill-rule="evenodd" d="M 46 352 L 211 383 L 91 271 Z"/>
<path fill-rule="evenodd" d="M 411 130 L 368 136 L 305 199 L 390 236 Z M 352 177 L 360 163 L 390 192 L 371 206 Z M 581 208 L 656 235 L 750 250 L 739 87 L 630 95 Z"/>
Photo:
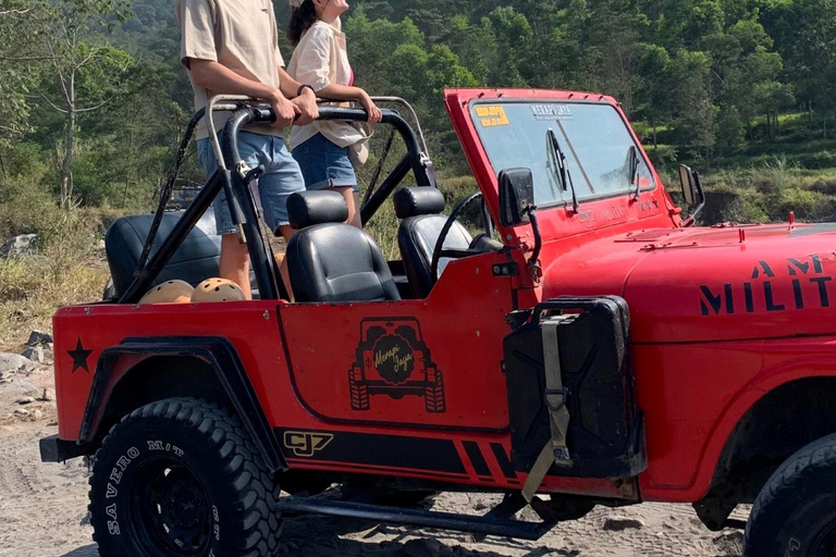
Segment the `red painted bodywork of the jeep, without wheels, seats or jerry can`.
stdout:
<path fill-rule="evenodd" d="M 514 99 L 606 104 L 629 129 L 605 96 L 447 91 L 451 120 L 496 223 L 501 169 L 491 164 L 472 109 L 487 104 L 479 114 L 501 125 L 491 107 Z M 86 409 L 89 441 L 133 407 L 190 393 L 189 370 L 201 372 L 187 360 L 208 358 L 128 349 L 108 359 L 112 347 L 223 339 L 291 470 L 519 490 L 527 474 L 512 463 L 506 318 L 562 295 L 616 295 L 630 311 L 647 469 L 637 478 L 548 475 L 540 491 L 701 502 L 706 523 L 717 525 L 729 500 L 753 499 L 764 471 L 836 431 L 832 419 L 811 423 L 806 410 L 836 398 L 827 391 L 836 385 L 836 228 L 683 227 L 681 210 L 647 164 L 652 177 L 638 199 L 604 196 L 583 200 L 578 212 L 570 203 L 538 210 L 540 280 L 526 271 L 531 226 L 497 224 L 507 249 L 450 262 L 426 299 L 62 308 L 54 317 L 60 440 L 79 440 Z M 507 265 L 517 272 L 496 272 Z M 95 382 L 103 386 L 93 400 Z"/>

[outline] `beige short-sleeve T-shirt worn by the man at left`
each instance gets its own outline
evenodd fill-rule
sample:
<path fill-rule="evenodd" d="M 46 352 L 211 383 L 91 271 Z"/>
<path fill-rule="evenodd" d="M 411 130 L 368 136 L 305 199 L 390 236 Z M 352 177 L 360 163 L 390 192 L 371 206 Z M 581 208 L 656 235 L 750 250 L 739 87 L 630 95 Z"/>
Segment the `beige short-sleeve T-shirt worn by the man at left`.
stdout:
<path fill-rule="evenodd" d="M 210 60 L 238 75 L 279 87 L 279 67 L 284 66 L 279 51 L 279 37 L 273 3 L 270 0 L 177 0 L 177 22 L 183 35 L 180 59 L 189 69 L 188 59 Z M 207 106 L 214 91 L 195 84 L 195 110 Z M 218 131 L 223 129 L 230 114 L 216 113 Z M 268 125 L 245 128 L 265 135 L 282 135 Z M 199 126 L 196 137 L 208 137 L 206 126 Z"/>

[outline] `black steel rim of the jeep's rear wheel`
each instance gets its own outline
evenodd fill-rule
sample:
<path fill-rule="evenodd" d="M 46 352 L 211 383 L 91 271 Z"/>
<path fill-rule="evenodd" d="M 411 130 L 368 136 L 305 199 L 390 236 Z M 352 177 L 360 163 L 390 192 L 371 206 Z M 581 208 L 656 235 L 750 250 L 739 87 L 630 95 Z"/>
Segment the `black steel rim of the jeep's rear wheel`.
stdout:
<path fill-rule="evenodd" d="M 212 533 L 209 497 L 194 471 L 170 458 L 145 462 L 131 487 L 131 525 L 150 555 L 204 555 Z"/>

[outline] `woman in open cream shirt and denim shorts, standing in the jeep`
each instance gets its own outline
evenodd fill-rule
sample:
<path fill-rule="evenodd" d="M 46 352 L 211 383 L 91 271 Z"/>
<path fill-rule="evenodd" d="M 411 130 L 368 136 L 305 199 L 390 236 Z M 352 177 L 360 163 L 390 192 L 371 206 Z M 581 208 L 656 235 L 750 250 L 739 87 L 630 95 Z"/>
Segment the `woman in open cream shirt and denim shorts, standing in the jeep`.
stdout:
<path fill-rule="evenodd" d="M 381 120 L 380 109 L 359 87 L 348 63 L 340 15 L 346 0 L 290 0 L 293 9 L 288 35 L 296 48 L 287 73 L 310 85 L 317 96 L 333 101 L 357 101 L 368 113 L 368 123 Z M 307 189 L 332 188 L 348 205 L 348 223 L 362 226 L 359 186 L 349 150 L 358 150 L 367 136 L 348 122 L 314 122 L 291 134 L 293 158 L 298 161 Z"/>

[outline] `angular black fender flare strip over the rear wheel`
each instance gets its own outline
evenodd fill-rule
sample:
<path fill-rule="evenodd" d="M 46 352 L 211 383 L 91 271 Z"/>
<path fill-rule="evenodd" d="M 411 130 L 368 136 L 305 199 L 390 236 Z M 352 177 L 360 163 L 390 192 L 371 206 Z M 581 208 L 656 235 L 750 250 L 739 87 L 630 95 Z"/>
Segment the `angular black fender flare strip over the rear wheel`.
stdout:
<path fill-rule="evenodd" d="M 96 362 L 78 445 L 88 444 L 96 437 L 104 409 L 119 382 L 139 362 L 153 356 L 186 356 L 208 363 L 270 471 L 288 468 L 235 347 L 229 339 L 216 336 L 126 338 L 102 351 Z"/>

